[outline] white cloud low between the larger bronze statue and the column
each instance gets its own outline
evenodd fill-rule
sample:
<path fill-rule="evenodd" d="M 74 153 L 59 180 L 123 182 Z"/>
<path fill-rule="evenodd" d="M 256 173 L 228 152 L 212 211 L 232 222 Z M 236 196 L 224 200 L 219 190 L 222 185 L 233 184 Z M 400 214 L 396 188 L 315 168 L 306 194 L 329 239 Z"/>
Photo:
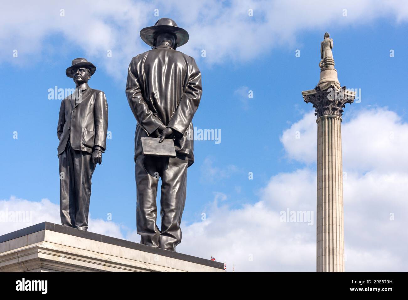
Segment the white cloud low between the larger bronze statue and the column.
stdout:
<path fill-rule="evenodd" d="M 304 169 L 273 176 L 260 200 L 230 209 L 217 199 L 206 220 L 183 224 L 177 251 L 219 261 L 228 271 L 314 271 L 316 227 L 307 222 L 280 222 L 280 211 L 315 209 L 315 175 Z M 252 260 L 251 260 L 252 259 Z"/>

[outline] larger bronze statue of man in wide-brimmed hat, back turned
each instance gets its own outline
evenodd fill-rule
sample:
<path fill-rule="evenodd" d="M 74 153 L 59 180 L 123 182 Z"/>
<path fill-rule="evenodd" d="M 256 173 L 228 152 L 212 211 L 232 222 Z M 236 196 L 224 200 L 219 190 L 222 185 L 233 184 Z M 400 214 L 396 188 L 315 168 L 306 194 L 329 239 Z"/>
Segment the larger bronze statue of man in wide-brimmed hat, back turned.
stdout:
<path fill-rule="evenodd" d="M 176 48 L 188 33 L 169 18 L 140 31 L 152 49 L 129 65 L 126 96 L 137 121 L 135 132 L 136 223 L 141 243 L 175 251 L 186 200 L 187 167 L 194 162 L 193 116 L 200 103 L 201 73 L 195 60 Z M 142 137 L 173 139 L 176 157 L 142 154 Z M 156 225 L 158 177 L 161 229 Z"/>

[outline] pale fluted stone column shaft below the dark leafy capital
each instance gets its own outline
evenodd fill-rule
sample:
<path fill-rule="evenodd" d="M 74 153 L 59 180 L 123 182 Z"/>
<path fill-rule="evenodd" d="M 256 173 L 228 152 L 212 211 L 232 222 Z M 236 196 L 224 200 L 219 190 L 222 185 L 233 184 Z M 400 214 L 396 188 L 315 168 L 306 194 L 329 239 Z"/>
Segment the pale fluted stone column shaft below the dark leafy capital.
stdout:
<path fill-rule="evenodd" d="M 317 118 L 317 272 L 344 271 L 341 118 Z"/>

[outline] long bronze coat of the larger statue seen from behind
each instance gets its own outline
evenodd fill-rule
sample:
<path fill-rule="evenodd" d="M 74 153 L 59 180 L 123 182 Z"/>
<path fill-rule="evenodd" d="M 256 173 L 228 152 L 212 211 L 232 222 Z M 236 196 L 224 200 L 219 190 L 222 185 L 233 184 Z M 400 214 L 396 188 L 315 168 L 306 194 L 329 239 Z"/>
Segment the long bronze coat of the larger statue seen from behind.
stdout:
<path fill-rule="evenodd" d="M 126 96 L 137 120 L 135 161 L 142 154 L 140 138 L 162 124 L 176 133 L 175 150 L 194 162 L 193 116 L 202 95 L 201 73 L 194 58 L 162 44 L 132 58 Z"/>

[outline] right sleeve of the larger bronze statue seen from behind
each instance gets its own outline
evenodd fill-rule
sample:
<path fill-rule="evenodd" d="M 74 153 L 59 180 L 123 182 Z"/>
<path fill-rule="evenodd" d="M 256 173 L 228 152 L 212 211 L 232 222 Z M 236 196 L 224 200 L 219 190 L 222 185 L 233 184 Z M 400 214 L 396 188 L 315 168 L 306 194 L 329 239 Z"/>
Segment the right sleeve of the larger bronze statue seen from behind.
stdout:
<path fill-rule="evenodd" d="M 184 133 L 193 120 L 195 111 L 197 111 L 198 104 L 200 104 L 201 95 L 201 73 L 195 60 L 192 59 L 186 91 L 183 93 L 177 109 L 171 117 L 169 124 L 167 124 L 167 127 L 175 129 L 184 136 Z"/>

